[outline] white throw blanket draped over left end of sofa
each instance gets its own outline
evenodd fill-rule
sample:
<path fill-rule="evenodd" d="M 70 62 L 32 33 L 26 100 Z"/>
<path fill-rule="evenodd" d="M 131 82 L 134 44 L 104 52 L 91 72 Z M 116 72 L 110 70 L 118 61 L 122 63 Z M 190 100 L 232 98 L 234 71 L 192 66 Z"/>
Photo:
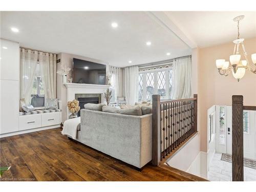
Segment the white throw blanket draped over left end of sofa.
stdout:
<path fill-rule="evenodd" d="M 77 127 L 81 122 L 81 118 L 73 118 L 73 119 L 68 119 L 64 122 L 63 125 L 63 130 L 62 130 L 62 135 L 68 135 L 73 139 L 76 139 L 77 137 Z"/>

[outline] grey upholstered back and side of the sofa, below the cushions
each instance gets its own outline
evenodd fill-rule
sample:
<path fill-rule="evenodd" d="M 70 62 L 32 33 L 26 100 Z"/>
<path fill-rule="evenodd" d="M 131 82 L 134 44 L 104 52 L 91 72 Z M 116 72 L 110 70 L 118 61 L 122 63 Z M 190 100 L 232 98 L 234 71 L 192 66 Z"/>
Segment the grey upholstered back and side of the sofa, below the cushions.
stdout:
<path fill-rule="evenodd" d="M 152 160 L 152 114 L 81 110 L 77 141 L 141 168 Z"/>

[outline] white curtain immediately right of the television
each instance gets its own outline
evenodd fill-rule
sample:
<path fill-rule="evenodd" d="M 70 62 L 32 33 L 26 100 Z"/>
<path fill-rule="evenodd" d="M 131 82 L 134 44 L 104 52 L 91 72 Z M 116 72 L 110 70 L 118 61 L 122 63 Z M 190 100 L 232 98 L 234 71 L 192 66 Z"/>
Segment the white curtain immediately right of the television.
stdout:
<path fill-rule="evenodd" d="M 109 72 L 113 75 L 114 77 L 114 89 L 117 97 L 122 97 L 122 69 L 118 67 L 109 67 Z"/>

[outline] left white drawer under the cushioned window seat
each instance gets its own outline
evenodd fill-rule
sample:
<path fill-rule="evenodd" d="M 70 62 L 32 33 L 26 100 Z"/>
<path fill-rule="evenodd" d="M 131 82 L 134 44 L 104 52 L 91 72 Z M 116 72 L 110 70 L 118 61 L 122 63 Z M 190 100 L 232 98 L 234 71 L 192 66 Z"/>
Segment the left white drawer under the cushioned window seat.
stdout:
<path fill-rule="evenodd" d="M 19 116 L 19 131 L 41 127 L 41 114 Z"/>

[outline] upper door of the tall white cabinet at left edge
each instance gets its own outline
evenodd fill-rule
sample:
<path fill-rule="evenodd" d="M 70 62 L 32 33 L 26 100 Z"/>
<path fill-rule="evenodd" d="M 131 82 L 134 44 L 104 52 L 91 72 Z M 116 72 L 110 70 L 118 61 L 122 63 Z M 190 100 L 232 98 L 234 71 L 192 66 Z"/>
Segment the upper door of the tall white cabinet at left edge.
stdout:
<path fill-rule="evenodd" d="M 19 44 L 1 39 L 0 79 L 19 80 Z"/>

